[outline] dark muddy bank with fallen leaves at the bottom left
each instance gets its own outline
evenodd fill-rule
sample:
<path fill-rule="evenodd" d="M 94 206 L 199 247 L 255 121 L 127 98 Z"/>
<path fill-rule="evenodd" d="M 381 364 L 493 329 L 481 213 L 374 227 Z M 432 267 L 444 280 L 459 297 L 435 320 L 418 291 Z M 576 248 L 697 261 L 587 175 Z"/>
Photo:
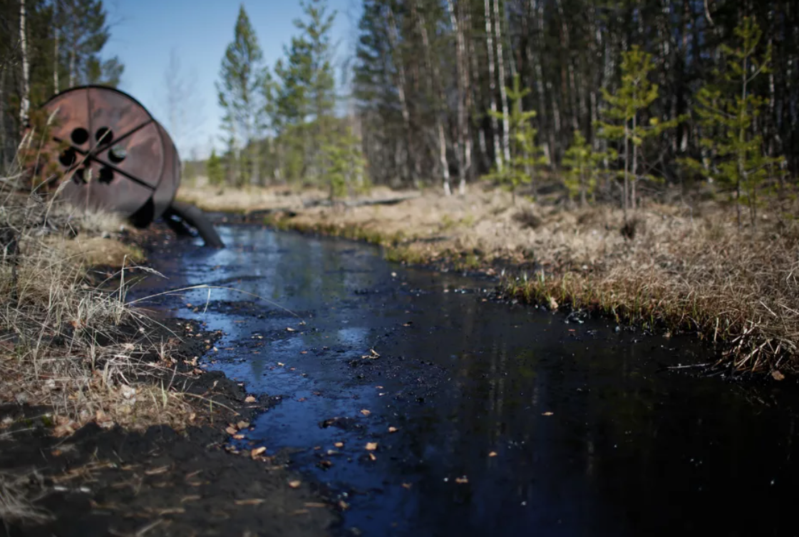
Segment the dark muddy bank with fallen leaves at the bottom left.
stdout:
<path fill-rule="evenodd" d="M 131 237 L 158 257 L 185 243 L 162 228 Z M 192 247 L 194 248 L 194 247 Z M 103 280 L 113 269 L 97 268 Z M 137 271 L 127 277 L 135 278 Z M 22 503 L 26 519 L 4 513 L 0 535 L 328 535 L 336 511 L 315 487 L 286 468 L 284 452 L 230 444 L 279 396 L 245 392 L 222 372 L 206 372 L 203 356 L 221 336 L 204 323 L 157 318 L 146 333 L 139 325 L 114 344 L 152 345 L 170 340 L 170 368 L 131 378 L 132 398 L 158 396 L 153 386 L 179 392 L 193 412 L 181 408 L 175 428 L 124 429 L 105 416 L 70 434 L 53 423 L 52 408 L 0 406 L 0 472 L 3 493 L 33 499 Z M 157 363 L 159 356 L 143 356 Z M 170 412 L 165 406 L 166 416 Z M 179 423 L 178 423 L 179 422 Z M 77 428 L 77 426 L 74 426 Z M 7 490 L 5 487 L 8 487 Z"/>

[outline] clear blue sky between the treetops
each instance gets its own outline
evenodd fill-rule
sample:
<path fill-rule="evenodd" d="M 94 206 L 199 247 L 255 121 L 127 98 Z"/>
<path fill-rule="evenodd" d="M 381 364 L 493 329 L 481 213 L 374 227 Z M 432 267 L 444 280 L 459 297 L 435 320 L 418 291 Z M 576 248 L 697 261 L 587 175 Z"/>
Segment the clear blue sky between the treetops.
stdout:
<path fill-rule="evenodd" d="M 225 48 L 233 39 L 233 26 L 240 4 L 255 28 L 264 50 L 264 61 L 272 69 L 283 55 L 283 46 L 296 34 L 292 21 L 301 17 L 299 0 L 107 0 L 111 38 L 103 50 L 125 64 L 120 89 L 137 98 L 159 121 L 167 125 L 165 71 L 171 50 L 177 50 L 181 74 L 196 83 L 193 108 L 200 118 L 190 133 L 177 141 L 181 157 L 192 150 L 200 157 L 210 153 L 211 143 L 221 148 L 214 82 Z M 338 63 L 352 52 L 360 17 L 360 0 L 328 0 L 337 10 L 332 38 L 337 42 Z M 336 71 L 336 80 L 340 70 Z"/>

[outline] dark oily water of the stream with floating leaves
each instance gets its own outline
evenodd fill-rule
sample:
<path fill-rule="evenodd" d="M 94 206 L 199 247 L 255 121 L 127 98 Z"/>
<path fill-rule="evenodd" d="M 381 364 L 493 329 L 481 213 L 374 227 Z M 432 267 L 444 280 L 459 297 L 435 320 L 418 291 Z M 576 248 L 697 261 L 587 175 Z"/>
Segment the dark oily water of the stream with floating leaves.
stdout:
<path fill-rule="evenodd" d="M 799 533 L 795 384 L 668 371 L 701 360 L 694 340 L 496 303 L 491 284 L 371 247 L 221 235 L 229 249 L 154 260 L 169 280 L 137 295 L 263 297 L 150 302 L 226 332 L 208 368 L 282 396 L 231 442 L 296 448 L 296 469 L 347 507 L 342 534 Z"/>

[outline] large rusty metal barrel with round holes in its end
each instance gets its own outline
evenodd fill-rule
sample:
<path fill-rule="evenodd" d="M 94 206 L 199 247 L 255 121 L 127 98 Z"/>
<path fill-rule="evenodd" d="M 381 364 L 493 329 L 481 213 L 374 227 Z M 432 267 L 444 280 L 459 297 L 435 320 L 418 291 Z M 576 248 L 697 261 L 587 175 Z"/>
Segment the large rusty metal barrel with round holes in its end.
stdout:
<path fill-rule="evenodd" d="M 161 217 L 181 182 L 181 160 L 166 130 L 127 93 L 79 86 L 58 93 L 45 145 L 57 157 L 52 187 L 81 209 L 105 209 L 137 226 Z"/>

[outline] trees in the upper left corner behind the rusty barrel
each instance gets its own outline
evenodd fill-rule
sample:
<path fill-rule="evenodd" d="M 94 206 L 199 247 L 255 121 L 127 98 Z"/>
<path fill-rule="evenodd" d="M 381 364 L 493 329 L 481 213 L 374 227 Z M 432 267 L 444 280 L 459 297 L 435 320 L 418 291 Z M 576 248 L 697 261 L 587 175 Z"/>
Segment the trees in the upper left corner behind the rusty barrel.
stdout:
<path fill-rule="evenodd" d="M 28 111 L 81 84 L 117 86 L 124 69 L 101 51 L 102 0 L 0 0 L 0 165 L 13 161 Z"/>

